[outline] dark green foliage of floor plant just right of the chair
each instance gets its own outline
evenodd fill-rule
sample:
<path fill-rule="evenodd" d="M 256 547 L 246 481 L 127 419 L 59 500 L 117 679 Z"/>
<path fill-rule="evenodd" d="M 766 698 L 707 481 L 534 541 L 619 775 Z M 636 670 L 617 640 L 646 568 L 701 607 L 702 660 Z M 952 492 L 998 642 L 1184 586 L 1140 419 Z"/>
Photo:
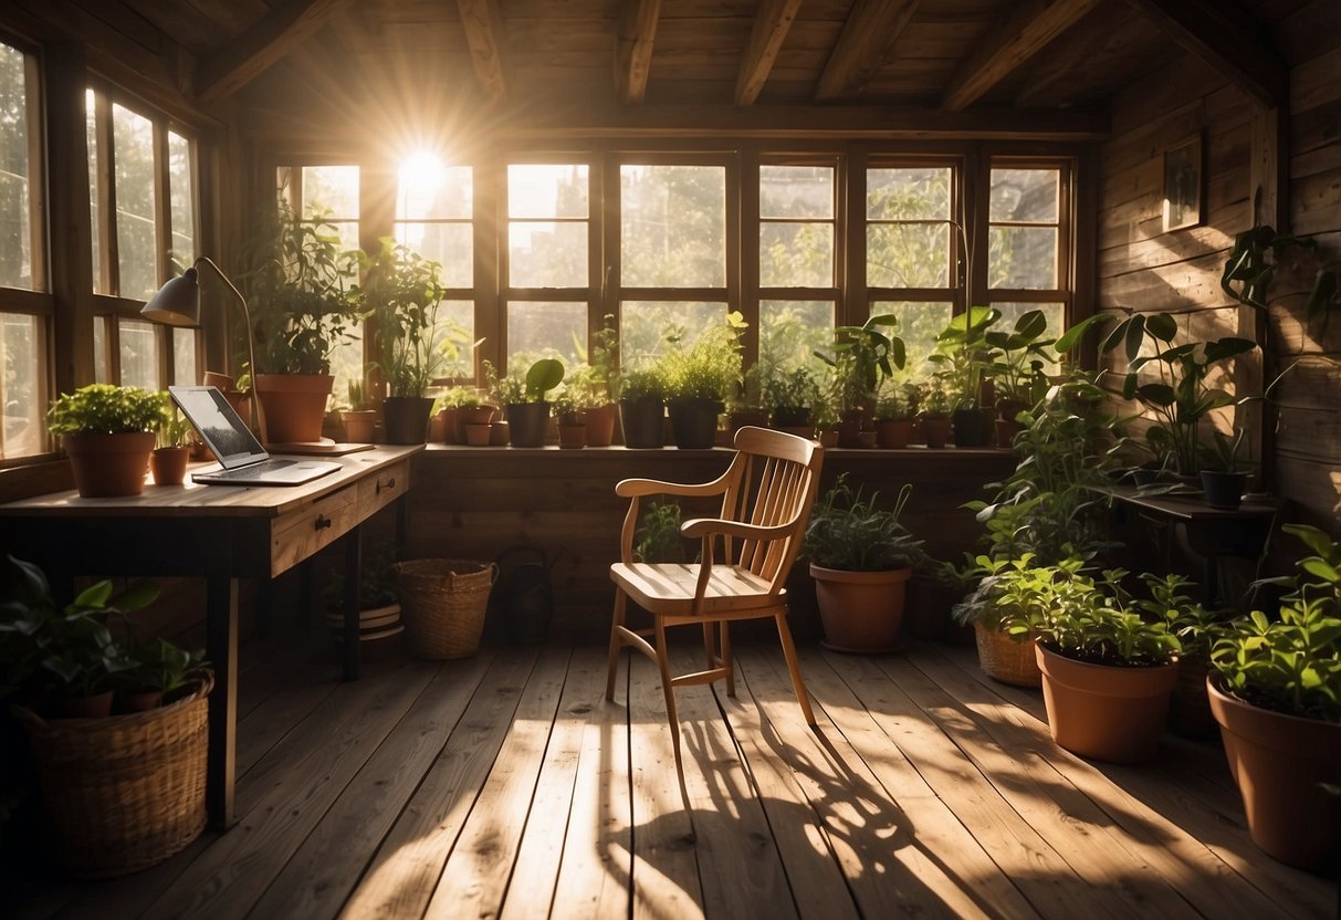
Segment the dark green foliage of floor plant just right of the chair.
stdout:
<path fill-rule="evenodd" d="M 920 565 L 925 559 L 923 540 L 898 520 L 912 494 L 905 484 L 893 508 L 877 506 L 880 498 L 862 488 L 853 491 L 848 473 L 815 503 L 806 527 L 805 554 L 823 569 L 845 571 L 885 571 Z"/>

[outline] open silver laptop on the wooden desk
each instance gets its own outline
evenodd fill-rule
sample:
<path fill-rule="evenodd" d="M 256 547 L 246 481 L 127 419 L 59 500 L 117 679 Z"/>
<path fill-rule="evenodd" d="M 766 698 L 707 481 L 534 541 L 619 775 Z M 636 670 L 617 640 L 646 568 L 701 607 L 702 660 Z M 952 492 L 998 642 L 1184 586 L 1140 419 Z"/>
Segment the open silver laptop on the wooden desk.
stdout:
<path fill-rule="evenodd" d="M 217 386 L 169 386 L 168 392 L 221 467 L 192 473 L 193 483 L 300 485 L 341 468 L 330 460 L 271 457 Z"/>

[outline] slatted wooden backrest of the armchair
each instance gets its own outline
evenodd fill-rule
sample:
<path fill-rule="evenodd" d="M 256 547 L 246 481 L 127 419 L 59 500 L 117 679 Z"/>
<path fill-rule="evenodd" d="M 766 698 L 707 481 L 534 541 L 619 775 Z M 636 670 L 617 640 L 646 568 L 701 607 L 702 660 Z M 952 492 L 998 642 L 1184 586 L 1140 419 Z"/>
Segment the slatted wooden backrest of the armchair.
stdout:
<path fill-rule="evenodd" d="M 817 441 L 750 425 L 736 432 L 735 447 L 721 518 L 787 530 L 774 539 L 727 540 L 723 558 L 768 579 L 778 591 L 801 551 L 825 452 Z"/>

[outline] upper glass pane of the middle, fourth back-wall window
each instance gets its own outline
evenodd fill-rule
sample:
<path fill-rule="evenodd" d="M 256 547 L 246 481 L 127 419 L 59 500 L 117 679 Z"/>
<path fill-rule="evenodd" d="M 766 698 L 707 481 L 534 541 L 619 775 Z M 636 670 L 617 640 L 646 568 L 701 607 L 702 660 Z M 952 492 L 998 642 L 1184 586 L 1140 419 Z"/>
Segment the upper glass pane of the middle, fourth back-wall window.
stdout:
<path fill-rule="evenodd" d="M 727 283 L 727 170 L 620 168 L 621 282 L 625 287 Z"/>

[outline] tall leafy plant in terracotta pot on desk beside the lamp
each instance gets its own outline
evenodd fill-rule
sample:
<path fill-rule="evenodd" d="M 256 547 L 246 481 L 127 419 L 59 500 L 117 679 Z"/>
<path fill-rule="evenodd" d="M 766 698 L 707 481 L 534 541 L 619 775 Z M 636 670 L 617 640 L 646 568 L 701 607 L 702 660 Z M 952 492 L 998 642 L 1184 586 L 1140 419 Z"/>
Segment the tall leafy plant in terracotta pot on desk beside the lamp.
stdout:
<path fill-rule="evenodd" d="M 271 443 L 316 441 L 334 377 L 330 355 L 359 317 L 350 298 L 358 257 L 339 248 L 323 216 L 303 219 L 286 203 L 245 251 L 239 278 L 255 323 L 248 369 Z"/>

